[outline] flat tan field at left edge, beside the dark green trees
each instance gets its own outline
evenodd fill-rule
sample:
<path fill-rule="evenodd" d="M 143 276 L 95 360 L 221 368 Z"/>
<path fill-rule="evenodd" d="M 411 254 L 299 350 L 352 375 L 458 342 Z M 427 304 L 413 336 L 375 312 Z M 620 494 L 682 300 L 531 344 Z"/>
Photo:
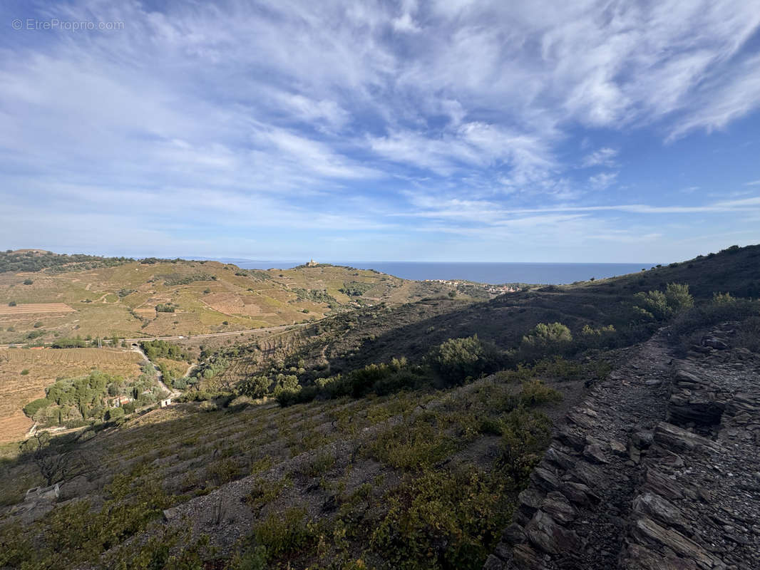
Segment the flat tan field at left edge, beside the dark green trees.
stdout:
<path fill-rule="evenodd" d="M 142 357 L 127 350 L 0 349 L 0 443 L 23 439 L 32 426 L 23 408 L 45 395 L 56 378 L 69 378 L 98 369 L 133 377 L 140 374 Z M 27 370 L 27 374 L 22 374 Z"/>

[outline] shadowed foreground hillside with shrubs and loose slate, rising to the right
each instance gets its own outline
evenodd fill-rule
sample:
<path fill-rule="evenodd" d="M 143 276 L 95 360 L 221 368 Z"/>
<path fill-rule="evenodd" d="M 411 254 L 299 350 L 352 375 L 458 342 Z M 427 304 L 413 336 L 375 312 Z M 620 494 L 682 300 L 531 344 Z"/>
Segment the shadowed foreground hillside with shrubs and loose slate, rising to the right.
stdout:
<path fill-rule="evenodd" d="M 206 347 L 179 404 L 5 448 L 0 566 L 752 568 L 755 467 L 724 451 L 760 421 L 758 251 Z M 711 475 L 698 436 L 741 480 Z M 80 468 L 24 501 L 46 461 Z M 720 529 L 692 529 L 701 504 Z"/>

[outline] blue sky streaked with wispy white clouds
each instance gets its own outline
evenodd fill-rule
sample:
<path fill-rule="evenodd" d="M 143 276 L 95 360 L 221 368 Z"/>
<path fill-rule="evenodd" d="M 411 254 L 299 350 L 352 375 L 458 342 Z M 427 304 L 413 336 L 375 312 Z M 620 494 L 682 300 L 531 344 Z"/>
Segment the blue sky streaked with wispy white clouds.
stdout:
<path fill-rule="evenodd" d="M 760 242 L 757 0 L 0 14 L 3 248 L 666 262 Z"/>

